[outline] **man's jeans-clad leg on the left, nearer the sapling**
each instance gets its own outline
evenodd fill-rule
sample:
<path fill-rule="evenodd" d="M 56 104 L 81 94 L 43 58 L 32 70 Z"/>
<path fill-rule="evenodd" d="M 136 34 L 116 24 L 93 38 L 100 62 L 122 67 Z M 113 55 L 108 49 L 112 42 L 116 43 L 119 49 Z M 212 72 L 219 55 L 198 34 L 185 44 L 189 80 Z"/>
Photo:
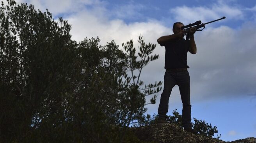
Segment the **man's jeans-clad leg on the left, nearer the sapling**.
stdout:
<path fill-rule="evenodd" d="M 166 119 L 168 112 L 168 103 L 172 88 L 176 85 L 176 80 L 172 72 L 165 72 L 164 74 L 164 90 L 161 94 L 160 103 L 158 107 L 158 119 Z"/>

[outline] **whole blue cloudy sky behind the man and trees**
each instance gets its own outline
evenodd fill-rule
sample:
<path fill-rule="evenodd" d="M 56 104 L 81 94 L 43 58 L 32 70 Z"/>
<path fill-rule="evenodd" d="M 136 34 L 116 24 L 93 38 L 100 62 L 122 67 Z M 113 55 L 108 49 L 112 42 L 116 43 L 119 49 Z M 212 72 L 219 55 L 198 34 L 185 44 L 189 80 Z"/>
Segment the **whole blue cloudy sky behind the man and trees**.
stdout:
<path fill-rule="evenodd" d="M 156 44 L 160 58 L 142 70 L 147 83 L 164 80 L 165 49 L 157 38 L 171 35 L 172 24 L 206 23 L 223 16 L 226 19 L 206 25 L 195 33 L 197 54 L 188 53 L 192 118 L 217 126 L 221 140 L 234 141 L 256 137 L 256 1 L 254 0 L 17 0 L 36 9 L 68 20 L 72 39 L 101 39 L 100 44 L 133 39 L 139 35 L 146 43 Z M 157 114 L 160 102 L 146 105 L 147 113 Z M 146 100 L 152 98 L 146 97 Z M 169 100 L 169 112 L 182 103 L 177 85 Z M 193 120 L 192 120 L 193 121 Z"/>

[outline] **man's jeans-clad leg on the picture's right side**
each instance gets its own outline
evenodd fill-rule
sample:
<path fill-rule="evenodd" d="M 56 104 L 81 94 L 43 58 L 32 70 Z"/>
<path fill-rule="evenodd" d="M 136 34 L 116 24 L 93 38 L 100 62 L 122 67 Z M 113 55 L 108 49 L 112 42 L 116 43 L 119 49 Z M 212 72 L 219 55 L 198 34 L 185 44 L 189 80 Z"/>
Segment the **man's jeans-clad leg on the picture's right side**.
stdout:
<path fill-rule="evenodd" d="M 184 128 L 191 128 L 191 105 L 190 105 L 190 77 L 188 71 L 179 72 L 177 83 L 180 89 L 182 109 L 182 122 Z"/>

